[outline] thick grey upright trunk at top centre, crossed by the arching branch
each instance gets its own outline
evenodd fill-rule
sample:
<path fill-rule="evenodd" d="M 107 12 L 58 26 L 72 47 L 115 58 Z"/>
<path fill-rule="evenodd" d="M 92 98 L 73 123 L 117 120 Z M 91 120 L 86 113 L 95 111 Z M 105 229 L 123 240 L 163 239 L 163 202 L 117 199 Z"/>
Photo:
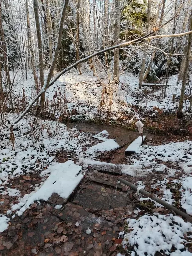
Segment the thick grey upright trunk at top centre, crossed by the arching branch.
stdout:
<path fill-rule="evenodd" d="M 120 0 L 115 0 L 115 25 L 114 25 L 114 45 L 119 44 L 120 35 Z M 119 83 L 119 48 L 114 50 L 113 79 L 115 84 Z"/>

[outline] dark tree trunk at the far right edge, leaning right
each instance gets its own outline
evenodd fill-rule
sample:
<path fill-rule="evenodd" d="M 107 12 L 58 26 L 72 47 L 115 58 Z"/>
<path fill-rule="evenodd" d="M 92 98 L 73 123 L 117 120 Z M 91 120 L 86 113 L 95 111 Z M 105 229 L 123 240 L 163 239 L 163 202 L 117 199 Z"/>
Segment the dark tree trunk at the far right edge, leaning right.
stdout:
<path fill-rule="evenodd" d="M 190 15 L 190 19 L 189 19 L 189 30 L 192 30 L 192 9 L 191 9 L 191 15 Z M 192 42 L 192 34 L 189 34 L 188 43 L 187 43 L 185 69 L 184 69 L 184 74 L 183 74 L 183 79 L 182 79 L 179 108 L 178 108 L 178 112 L 177 112 L 177 116 L 180 118 L 183 117 L 183 102 L 184 102 L 185 86 L 186 86 L 186 82 L 187 82 L 187 75 L 188 75 L 188 71 L 189 71 L 189 61 L 190 61 L 190 55 L 191 55 L 191 42 Z"/>

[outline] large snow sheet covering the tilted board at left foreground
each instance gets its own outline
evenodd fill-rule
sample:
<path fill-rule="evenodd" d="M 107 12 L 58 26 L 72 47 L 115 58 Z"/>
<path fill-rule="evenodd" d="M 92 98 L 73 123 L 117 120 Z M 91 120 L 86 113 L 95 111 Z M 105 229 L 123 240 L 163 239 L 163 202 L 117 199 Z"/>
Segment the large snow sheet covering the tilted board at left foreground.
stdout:
<path fill-rule="evenodd" d="M 41 173 L 41 175 L 44 175 L 50 172 L 49 177 L 43 185 L 29 195 L 19 198 L 20 203 L 13 205 L 12 210 L 15 210 L 17 206 L 22 206 L 22 208 L 16 212 L 18 216 L 21 216 L 34 201 L 47 201 L 53 193 L 57 193 L 60 197 L 67 199 L 83 178 L 82 174 L 77 176 L 81 168 L 81 166 L 74 164 L 71 160 L 49 167 L 46 171 Z"/>

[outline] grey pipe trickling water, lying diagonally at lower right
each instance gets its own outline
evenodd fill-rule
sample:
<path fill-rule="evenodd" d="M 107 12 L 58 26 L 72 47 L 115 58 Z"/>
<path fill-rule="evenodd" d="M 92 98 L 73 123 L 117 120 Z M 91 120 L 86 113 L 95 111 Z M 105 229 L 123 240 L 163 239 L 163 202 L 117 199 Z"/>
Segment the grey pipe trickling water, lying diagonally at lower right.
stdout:
<path fill-rule="evenodd" d="M 174 206 L 172 206 L 172 205 L 166 203 L 165 201 L 163 201 L 163 200 L 161 200 L 160 198 L 154 196 L 153 194 L 151 194 L 151 193 L 145 191 L 144 189 L 135 186 L 134 184 L 132 184 L 132 183 L 129 182 L 129 181 L 126 181 L 126 180 L 124 180 L 124 179 L 122 179 L 122 178 L 118 178 L 118 180 L 119 180 L 121 183 L 123 183 L 123 184 L 129 186 L 130 188 L 134 189 L 134 190 L 137 191 L 138 193 L 141 193 L 141 194 L 143 194 L 143 195 L 149 197 L 150 199 L 154 200 L 155 202 L 157 202 L 157 203 L 163 205 L 163 206 L 166 207 L 167 209 L 173 210 L 177 215 L 180 215 L 181 217 L 185 218 L 188 222 L 192 222 L 192 217 L 191 217 L 191 216 L 189 216 L 188 214 L 182 212 L 181 210 L 177 209 L 176 207 L 174 207 Z"/>

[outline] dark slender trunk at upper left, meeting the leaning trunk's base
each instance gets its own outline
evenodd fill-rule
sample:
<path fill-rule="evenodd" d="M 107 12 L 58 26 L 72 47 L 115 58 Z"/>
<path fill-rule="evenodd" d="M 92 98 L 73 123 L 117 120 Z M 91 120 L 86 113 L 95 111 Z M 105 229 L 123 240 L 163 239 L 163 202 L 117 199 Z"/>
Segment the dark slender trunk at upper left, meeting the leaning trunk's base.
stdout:
<path fill-rule="evenodd" d="M 43 68 L 43 48 L 42 48 L 42 41 L 41 41 L 41 29 L 39 24 L 39 13 L 38 13 L 38 1 L 33 0 L 33 8 L 35 14 L 35 23 L 37 29 L 37 41 L 38 41 L 38 51 L 39 51 L 39 73 L 40 73 L 40 82 L 41 88 L 44 85 L 44 68 Z"/>

